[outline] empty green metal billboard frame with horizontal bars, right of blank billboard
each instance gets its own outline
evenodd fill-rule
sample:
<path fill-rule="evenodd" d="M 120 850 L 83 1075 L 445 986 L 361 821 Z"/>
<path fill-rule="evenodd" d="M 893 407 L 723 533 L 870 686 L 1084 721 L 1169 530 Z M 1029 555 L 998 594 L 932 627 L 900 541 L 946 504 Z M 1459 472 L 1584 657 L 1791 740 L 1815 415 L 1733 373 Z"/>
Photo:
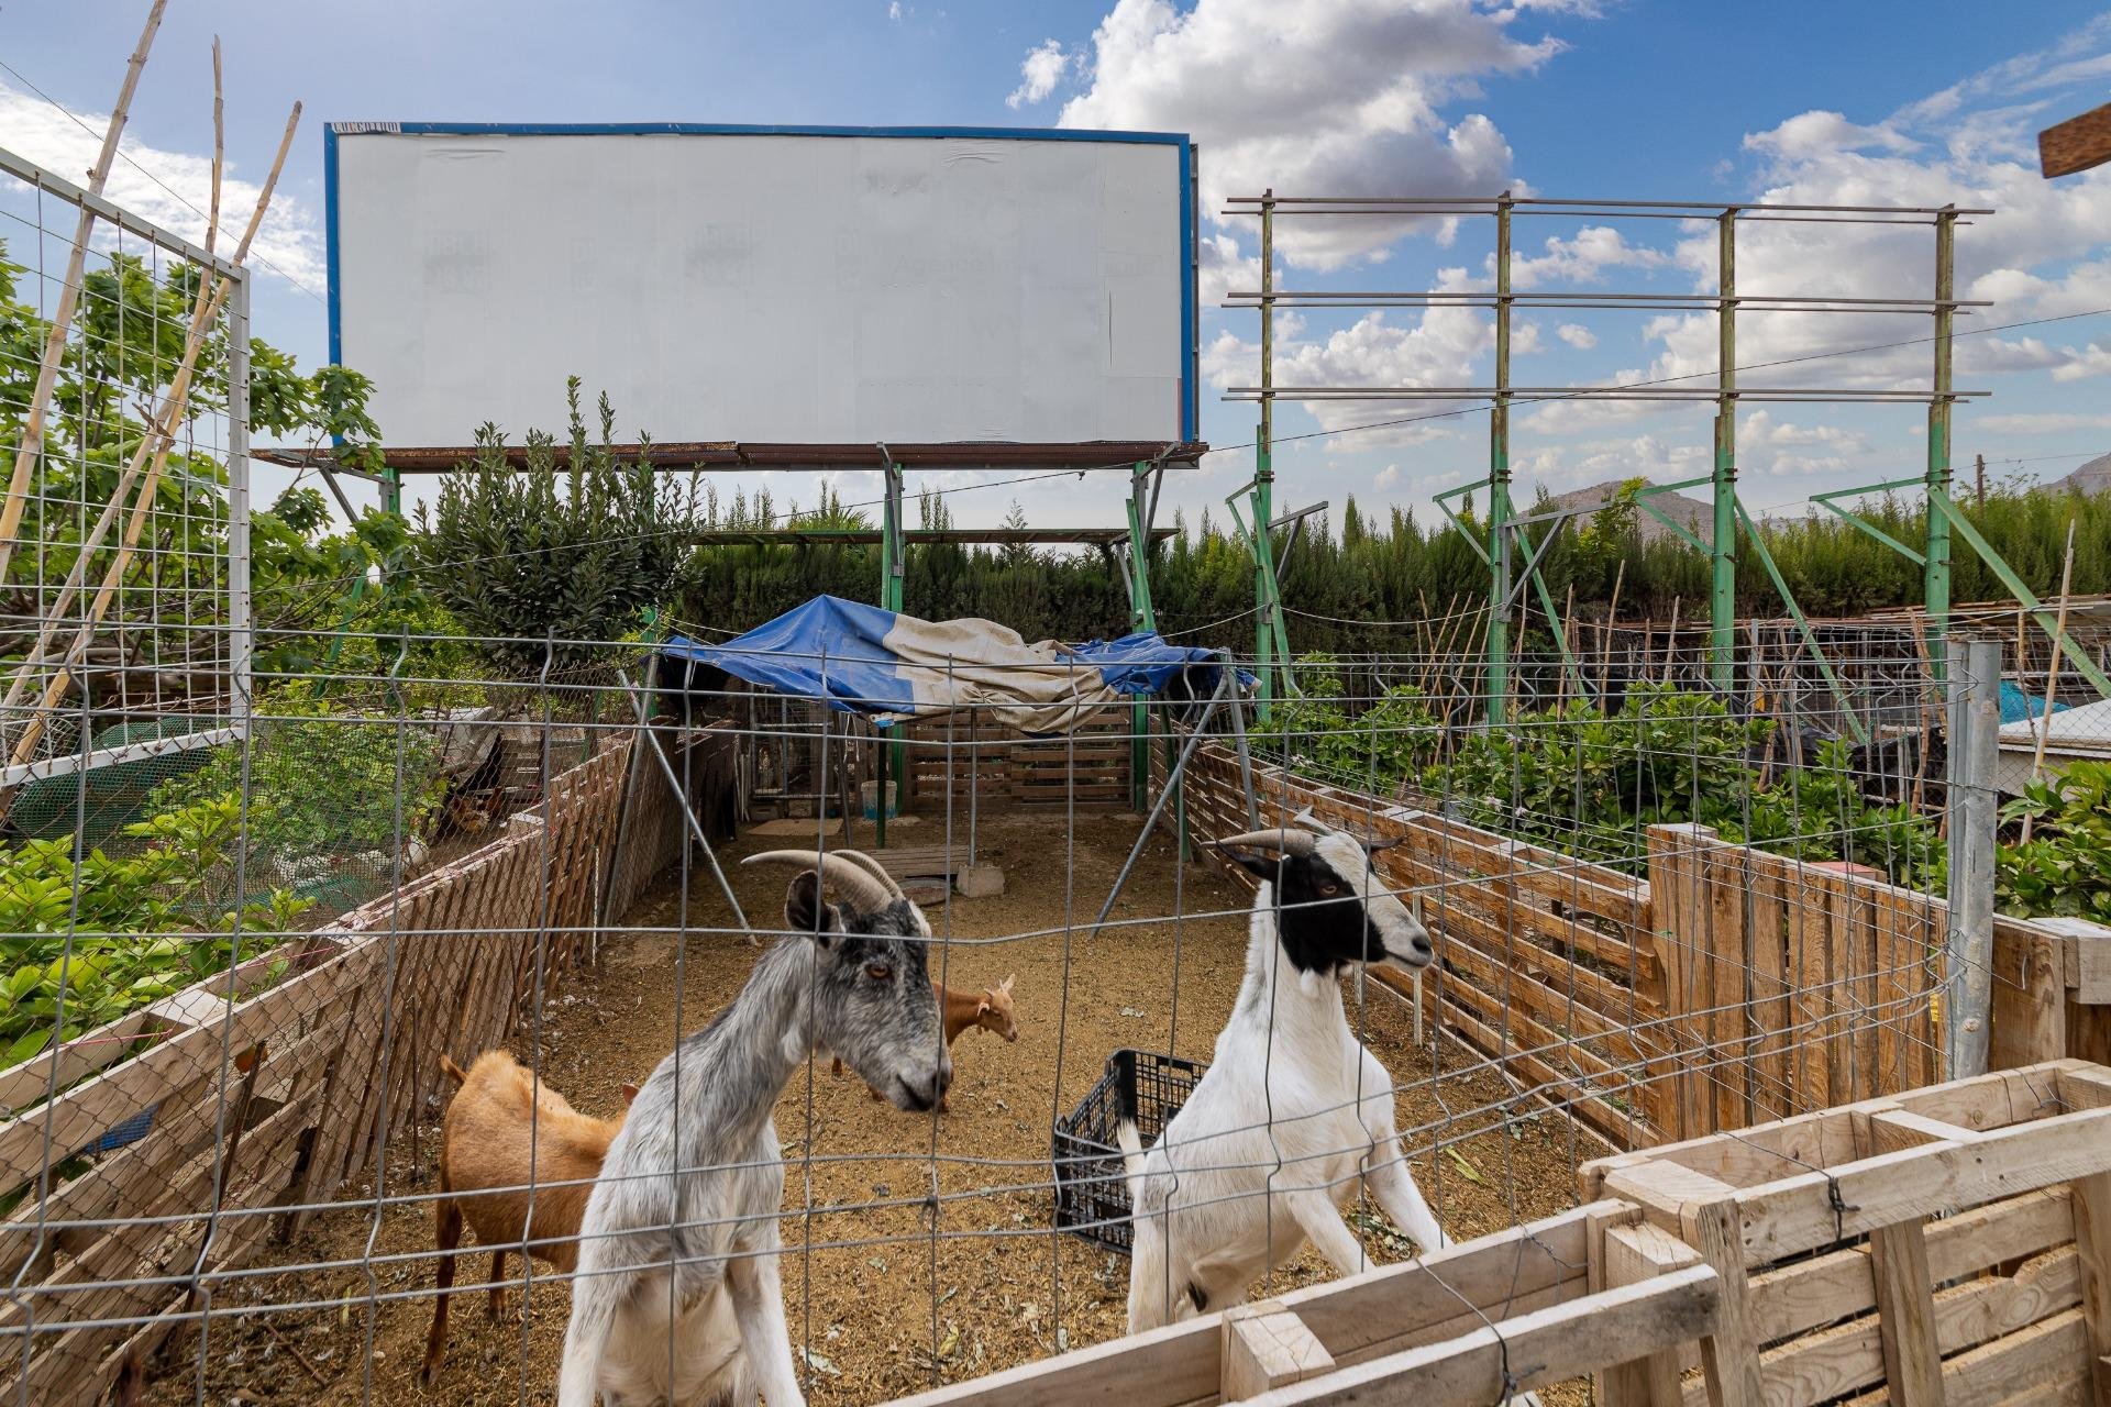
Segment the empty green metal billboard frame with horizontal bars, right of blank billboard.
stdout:
<path fill-rule="evenodd" d="M 1509 411 L 1518 401 L 1706 401 L 1714 405 L 1714 447 L 1708 477 L 1685 483 L 1649 487 L 1640 494 L 1640 506 L 1666 523 L 1691 546 L 1710 559 L 1710 679 L 1716 688 L 1731 681 L 1731 660 L 1735 654 L 1737 629 L 1737 565 L 1739 540 L 1748 544 L 1750 557 L 1767 574 L 1811 656 L 1818 660 L 1828 683 L 1839 692 L 1801 605 L 1788 582 L 1775 567 L 1758 534 L 1758 525 L 1737 496 L 1737 405 L 1750 403 L 1811 403 L 1811 405 L 1925 405 L 1927 407 L 1927 468 L 1915 479 L 1879 483 L 1856 489 L 1822 494 L 1815 502 L 1845 521 L 1875 536 L 1885 546 L 1906 555 L 1923 567 L 1923 597 L 1929 620 L 1929 662 L 1940 677 L 1944 669 L 1951 605 L 1951 555 L 1953 540 L 1961 538 L 1970 551 L 1978 553 L 1995 576 L 2016 593 L 2033 618 L 2052 635 L 2060 650 L 2100 692 L 2111 696 L 2111 679 L 2065 635 L 2060 635 L 2052 614 L 2024 586 L 2016 572 L 2001 559 L 1951 496 L 1951 407 L 1957 401 L 1982 397 L 1986 392 L 1959 390 L 1953 380 L 1955 319 L 1961 308 L 1984 308 L 1989 304 L 1959 300 L 1955 289 L 1955 251 L 1959 217 L 1989 215 L 1989 209 L 1959 205 L 1942 207 L 1877 207 L 1877 205 L 1773 205 L 1773 203 L 1687 203 L 1687 200 L 1560 200 L 1539 196 L 1277 196 L 1273 190 L 1260 196 L 1233 196 L 1224 215 L 1252 215 L 1260 221 L 1260 289 L 1235 291 L 1229 308 L 1256 308 L 1260 312 L 1260 384 L 1231 386 L 1229 401 L 1256 401 L 1260 407 L 1260 428 L 1254 447 L 1254 479 L 1239 494 L 1250 494 L 1256 523 L 1275 523 L 1271 517 L 1273 494 L 1273 407 L 1277 399 L 1292 401 L 1486 401 L 1488 403 L 1488 468 L 1482 479 L 1444 494 L 1435 494 L 1446 519 L 1457 525 L 1476 555 L 1488 567 L 1488 721 L 1499 724 L 1516 707 L 1511 688 L 1511 612 L 1533 589 L 1549 620 L 1560 620 L 1554 597 L 1539 572 L 1539 557 L 1554 540 L 1566 517 L 1539 515 L 1524 517 L 1511 500 L 1509 473 Z M 1332 289 L 1281 289 L 1275 283 L 1275 221 L 1283 217 L 1372 217 L 1391 215 L 1402 219 L 1419 217 L 1488 217 L 1495 221 L 1495 285 L 1488 291 L 1423 289 L 1423 291 L 1332 291 Z M 1552 289 L 1520 293 L 1511 287 L 1511 232 L 1520 217 L 1571 217 L 1571 219 L 1676 219 L 1712 221 L 1716 228 L 1716 291 L 1710 293 L 1632 293 L 1632 291 L 1579 291 Z M 1830 297 L 1805 293 L 1739 293 L 1737 291 L 1737 226 L 1742 224 L 1843 224 L 1843 226 L 1923 226 L 1934 234 L 1934 287 L 1932 297 Z M 1488 308 L 1495 319 L 1495 382 L 1486 386 L 1279 386 L 1275 382 L 1275 310 L 1277 308 Z M 1663 312 L 1714 312 L 1716 314 L 1716 373 L 1714 386 L 1680 384 L 1693 378 L 1670 378 L 1649 384 L 1613 386 L 1518 386 L 1511 382 L 1511 319 L 1518 308 L 1583 308 L 1583 310 L 1663 310 Z M 1934 356 L 1929 384 L 1925 388 L 1866 390 L 1832 384 L 1813 386 L 1739 386 L 1737 382 L 1737 310 L 1754 312 L 1887 312 L 1908 316 L 1929 316 L 1934 321 Z M 1687 525 L 1657 508 L 1651 498 L 1697 485 L 1710 487 L 1712 527 L 1701 540 Z M 1925 544 L 1915 548 L 1879 532 L 1856 513 L 1839 506 L 1837 500 L 1862 494 L 1881 494 L 1919 485 L 1927 502 Z M 1454 504 L 1476 492 L 1486 492 L 1488 515 L 1484 521 L 1471 513 L 1461 513 Z M 1237 494 L 1235 494 L 1237 498 Z M 1587 513 L 1590 508 L 1581 508 Z M 1549 521 L 1552 517 L 1552 521 Z M 1233 508 L 1237 521 L 1237 508 Z M 1549 523 L 1545 538 L 1530 534 L 1533 523 Z M 1273 555 L 1269 534 L 1245 534 L 1254 548 L 1254 608 L 1256 608 L 1256 669 L 1262 679 L 1262 709 L 1271 698 L 1271 675 L 1288 664 L 1288 641 L 1281 631 L 1279 563 Z M 1522 561 L 1522 567 L 1520 567 Z M 1556 629 L 1562 669 L 1575 679 L 1575 660 L 1568 641 Z M 1288 671 L 1283 671 L 1288 681 Z M 1579 696 L 1581 679 L 1575 679 Z M 1843 700 L 1845 702 L 1845 700 Z M 1860 736 L 1862 724 L 1853 709 L 1845 711 L 1851 730 Z"/>

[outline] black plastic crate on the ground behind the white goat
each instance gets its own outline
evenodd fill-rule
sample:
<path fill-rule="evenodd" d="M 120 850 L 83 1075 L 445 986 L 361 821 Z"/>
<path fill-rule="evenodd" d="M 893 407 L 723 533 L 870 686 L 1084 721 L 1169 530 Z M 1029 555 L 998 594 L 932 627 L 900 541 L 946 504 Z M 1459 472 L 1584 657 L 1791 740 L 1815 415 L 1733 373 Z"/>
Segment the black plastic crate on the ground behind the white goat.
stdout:
<path fill-rule="evenodd" d="M 1121 1148 L 1115 1143 L 1123 1093 L 1136 1091 L 1136 1131 L 1150 1148 L 1195 1093 L 1203 1069 L 1207 1065 L 1199 1061 L 1157 1051 L 1115 1051 L 1106 1057 L 1100 1082 L 1056 1120 L 1056 1230 L 1129 1253 L 1129 1183 L 1123 1181 Z"/>

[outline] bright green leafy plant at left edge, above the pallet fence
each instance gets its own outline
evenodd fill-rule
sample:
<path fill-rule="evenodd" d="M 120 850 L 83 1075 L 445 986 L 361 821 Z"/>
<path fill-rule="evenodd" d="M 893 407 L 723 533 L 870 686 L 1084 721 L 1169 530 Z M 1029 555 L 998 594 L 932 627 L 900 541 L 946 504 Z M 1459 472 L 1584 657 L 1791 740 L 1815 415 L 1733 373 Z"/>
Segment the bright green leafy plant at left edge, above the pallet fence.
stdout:
<path fill-rule="evenodd" d="M 127 827 L 144 848 L 122 859 L 76 865 L 70 840 L 0 846 L 0 1069 L 224 972 L 236 922 L 243 958 L 291 930 L 310 905 L 287 890 L 239 911 L 222 897 L 236 827 L 217 797 Z"/>

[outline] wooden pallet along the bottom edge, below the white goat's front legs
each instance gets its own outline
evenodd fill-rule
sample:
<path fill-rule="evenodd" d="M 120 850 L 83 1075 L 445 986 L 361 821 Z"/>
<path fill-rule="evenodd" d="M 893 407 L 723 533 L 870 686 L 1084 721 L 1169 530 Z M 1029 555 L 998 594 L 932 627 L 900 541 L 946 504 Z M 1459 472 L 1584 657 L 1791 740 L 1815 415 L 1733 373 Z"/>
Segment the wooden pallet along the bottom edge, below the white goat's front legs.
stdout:
<path fill-rule="evenodd" d="M 1689 1348 L 1712 1354 L 1716 1272 L 1687 1257 L 1661 1276 L 1615 1280 L 1594 1247 L 1611 1238 L 1623 1249 L 1630 1234 L 1651 1234 L 1636 1209 L 1596 1202 L 1419 1261 L 935 1388 L 897 1407 L 1110 1399 L 1125 1407 L 1486 1407 Z"/>

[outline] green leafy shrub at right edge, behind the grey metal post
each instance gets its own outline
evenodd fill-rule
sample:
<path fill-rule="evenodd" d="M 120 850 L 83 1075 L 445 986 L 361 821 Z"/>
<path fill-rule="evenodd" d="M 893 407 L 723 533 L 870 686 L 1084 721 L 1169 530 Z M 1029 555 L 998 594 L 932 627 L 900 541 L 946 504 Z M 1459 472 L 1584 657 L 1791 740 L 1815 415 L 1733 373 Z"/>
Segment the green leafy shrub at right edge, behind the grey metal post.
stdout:
<path fill-rule="evenodd" d="M 2031 818 L 2031 840 L 2001 846 L 1995 897 L 2018 918 L 2069 915 L 2111 924 L 2111 762 L 2075 762 L 2033 780 L 2001 808 Z"/>

